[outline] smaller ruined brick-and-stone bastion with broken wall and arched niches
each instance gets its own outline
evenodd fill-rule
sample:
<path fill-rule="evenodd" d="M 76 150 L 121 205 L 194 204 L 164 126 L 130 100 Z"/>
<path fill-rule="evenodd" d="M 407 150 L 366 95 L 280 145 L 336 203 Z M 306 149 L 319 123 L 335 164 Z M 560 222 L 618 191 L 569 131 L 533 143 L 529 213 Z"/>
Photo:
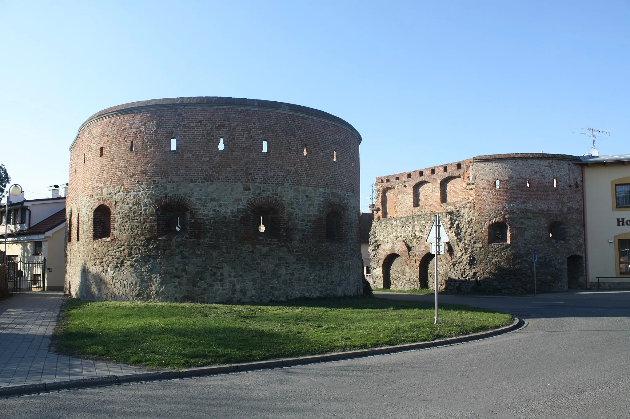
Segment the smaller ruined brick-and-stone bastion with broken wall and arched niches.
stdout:
<path fill-rule="evenodd" d="M 582 179 L 576 159 L 486 155 L 378 177 L 370 232 L 372 286 L 435 289 L 426 238 L 438 213 L 450 238 L 438 259 L 438 289 L 530 293 L 534 252 L 539 254 L 538 291 L 584 288 Z M 501 223 L 507 225 L 503 242 L 494 228 Z"/>

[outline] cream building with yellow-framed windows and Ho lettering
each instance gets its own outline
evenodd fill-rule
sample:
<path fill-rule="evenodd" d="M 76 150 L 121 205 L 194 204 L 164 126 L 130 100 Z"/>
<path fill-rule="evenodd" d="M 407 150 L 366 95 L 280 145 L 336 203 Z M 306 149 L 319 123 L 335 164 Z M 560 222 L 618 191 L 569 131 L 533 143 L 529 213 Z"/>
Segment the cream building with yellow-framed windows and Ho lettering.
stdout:
<path fill-rule="evenodd" d="M 630 154 L 580 160 L 590 289 L 630 288 Z"/>

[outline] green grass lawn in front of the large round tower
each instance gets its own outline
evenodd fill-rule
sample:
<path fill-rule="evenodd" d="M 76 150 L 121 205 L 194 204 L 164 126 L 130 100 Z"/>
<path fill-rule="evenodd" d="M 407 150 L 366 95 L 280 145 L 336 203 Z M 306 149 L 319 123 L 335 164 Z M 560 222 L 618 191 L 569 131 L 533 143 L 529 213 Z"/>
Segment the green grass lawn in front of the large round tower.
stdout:
<path fill-rule="evenodd" d="M 69 299 L 57 351 L 151 368 L 185 368 L 423 342 L 489 330 L 512 316 L 442 304 L 345 298 L 268 304 Z"/>

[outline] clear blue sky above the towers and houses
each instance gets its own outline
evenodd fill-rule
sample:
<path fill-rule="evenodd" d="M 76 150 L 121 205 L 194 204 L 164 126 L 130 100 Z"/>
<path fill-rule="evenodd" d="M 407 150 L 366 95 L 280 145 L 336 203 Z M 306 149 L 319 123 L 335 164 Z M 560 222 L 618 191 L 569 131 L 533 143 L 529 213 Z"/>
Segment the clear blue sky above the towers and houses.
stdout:
<path fill-rule="evenodd" d="M 630 153 L 629 43 L 627 1 L 0 1 L 0 163 L 37 198 L 90 115 L 180 96 L 340 116 L 362 197 L 474 155 L 580 155 L 586 126 Z"/>

